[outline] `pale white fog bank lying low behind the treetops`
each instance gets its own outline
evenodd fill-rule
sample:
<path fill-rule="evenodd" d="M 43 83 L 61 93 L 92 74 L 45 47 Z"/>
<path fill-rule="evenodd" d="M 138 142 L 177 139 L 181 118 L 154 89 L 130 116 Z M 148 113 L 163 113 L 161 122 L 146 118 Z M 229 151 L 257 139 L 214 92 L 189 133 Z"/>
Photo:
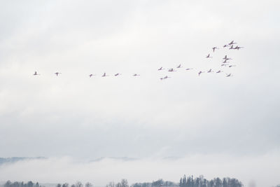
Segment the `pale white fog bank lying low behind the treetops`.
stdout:
<path fill-rule="evenodd" d="M 124 159 L 103 158 L 85 162 L 73 158 L 47 158 L 20 161 L 0 166 L 0 180 L 39 181 L 41 183 L 83 183 L 105 186 L 109 181 L 136 182 L 164 179 L 179 183 L 183 174 L 232 177 L 248 186 L 275 186 L 280 179 L 279 153 L 235 158 L 231 155 L 189 155 L 185 158 Z"/>

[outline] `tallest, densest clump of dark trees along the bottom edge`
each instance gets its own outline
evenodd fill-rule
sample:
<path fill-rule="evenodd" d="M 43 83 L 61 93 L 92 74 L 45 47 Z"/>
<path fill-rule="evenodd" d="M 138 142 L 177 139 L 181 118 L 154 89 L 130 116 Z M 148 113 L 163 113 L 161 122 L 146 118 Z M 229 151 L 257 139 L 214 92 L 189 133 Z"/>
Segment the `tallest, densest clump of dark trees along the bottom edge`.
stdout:
<path fill-rule="evenodd" d="M 207 179 L 204 179 L 204 177 L 201 175 L 200 177 L 197 177 L 193 179 L 193 176 L 186 175 L 183 176 L 183 178 L 180 179 L 179 183 L 180 187 L 241 187 L 243 184 L 241 181 L 238 181 L 237 179 L 230 179 L 227 178 L 214 178 L 210 181 Z"/>

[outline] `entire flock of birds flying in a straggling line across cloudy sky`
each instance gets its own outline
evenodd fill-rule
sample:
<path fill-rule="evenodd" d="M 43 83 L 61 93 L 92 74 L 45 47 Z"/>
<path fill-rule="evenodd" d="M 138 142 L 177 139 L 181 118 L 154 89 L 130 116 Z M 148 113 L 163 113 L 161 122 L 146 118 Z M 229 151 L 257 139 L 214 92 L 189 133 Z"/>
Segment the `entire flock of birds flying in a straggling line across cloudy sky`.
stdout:
<path fill-rule="evenodd" d="M 239 49 L 241 49 L 241 48 L 244 48 L 244 47 L 240 47 L 240 46 L 234 46 L 235 44 L 237 44 L 235 41 L 231 41 L 230 43 L 228 43 L 228 44 L 225 44 L 224 46 L 223 46 L 223 48 L 228 48 L 229 50 L 239 50 Z M 213 47 L 212 48 L 212 50 L 213 50 L 213 53 L 215 52 L 215 50 L 218 50 L 219 48 L 218 47 Z M 211 55 L 210 55 L 210 53 L 206 56 L 206 58 L 211 58 Z M 223 62 L 222 62 L 222 64 L 221 64 L 221 67 L 236 67 L 236 65 L 235 64 L 230 64 L 230 60 L 232 60 L 232 58 L 230 58 L 230 57 L 228 57 L 228 55 L 225 55 L 225 57 L 223 57 Z M 181 68 L 183 68 L 182 66 L 181 66 L 181 64 L 179 64 L 179 66 L 177 66 L 176 67 L 176 69 L 181 69 Z M 189 71 L 189 70 L 192 70 L 193 68 L 187 68 L 186 70 L 187 71 Z M 163 67 L 160 67 L 160 69 L 158 69 L 158 71 L 162 71 L 162 70 L 164 70 L 164 68 Z M 174 71 L 176 71 L 174 68 L 170 68 L 170 69 L 168 69 L 167 70 L 168 72 L 174 72 Z M 212 69 L 209 69 L 208 71 L 198 71 L 198 76 L 200 76 L 201 74 L 203 74 L 203 73 L 205 73 L 205 72 L 207 72 L 207 73 L 214 73 L 215 71 L 213 71 Z M 218 70 L 218 71 L 216 71 L 216 74 L 220 74 L 220 73 L 222 73 L 223 71 L 221 71 L 221 70 Z M 60 73 L 60 72 L 55 72 L 55 75 L 56 76 L 59 76 L 59 74 L 62 74 L 62 73 Z M 35 71 L 34 72 L 34 74 L 33 74 L 34 76 L 39 76 L 40 74 L 38 74 L 38 72 L 37 71 Z M 113 76 L 120 76 L 121 74 L 120 73 L 118 73 L 118 74 L 114 74 Z M 90 78 L 92 78 L 92 76 L 96 76 L 95 74 L 90 74 L 89 75 L 89 77 Z M 107 75 L 106 73 L 104 73 L 104 74 L 102 74 L 102 77 L 105 77 L 105 76 L 109 76 L 109 75 Z M 132 76 L 140 76 L 140 74 L 132 74 Z M 232 76 L 232 74 L 226 74 L 226 77 L 229 77 L 229 76 Z M 160 80 L 164 80 L 164 79 L 167 79 L 167 78 L 171 78 L 170 76 L 164 76 L 164 77 L 162 77 L 162 78 L 160 78 Z"/>

